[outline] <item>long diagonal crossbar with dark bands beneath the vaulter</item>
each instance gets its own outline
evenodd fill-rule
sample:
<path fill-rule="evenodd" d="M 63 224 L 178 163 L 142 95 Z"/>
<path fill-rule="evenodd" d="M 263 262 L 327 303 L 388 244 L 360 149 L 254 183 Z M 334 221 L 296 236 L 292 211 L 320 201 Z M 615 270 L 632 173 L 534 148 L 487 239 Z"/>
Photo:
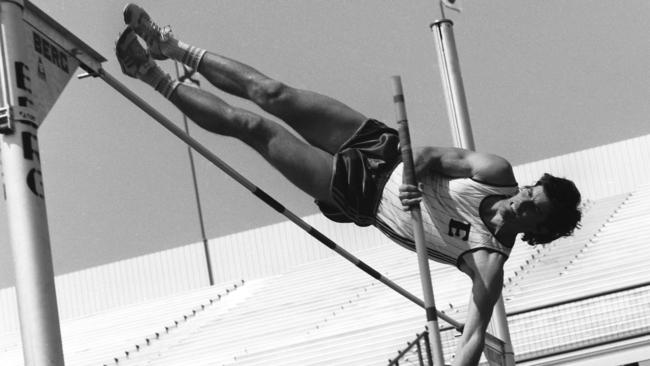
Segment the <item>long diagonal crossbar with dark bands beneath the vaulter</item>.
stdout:
<path fill-rule="evenodd" d="M 273 199 L 271 196 L 266 194 L 264 191 L 262 191 L 260 188 L 258 188 L 255 184 L 250 182 L 248 179 L 246 179 L 244 176 L 239 174 L 237 171 L 235 171 L 232 167 L 230 167 L 228 164 L 226 164 L 223 160 L 219 159 L 214 153 L 212 153 L 210 150 L 208 150 L 205 146 L 201 145 L 200 142 L 198 142 L 196 139 L 185 133 L 181 128 L 176 126 L 174 122 L 169 120 L 167 117 L 165 117 L 162 113 L 160 113 L 158 110 L 156 110 L 154 107 L 152 107 L 150 104 L 145 102 L 142 98 L 140 98 L 137 94 L 129 90 L 124 84 L 122 84 L 120 81 L 115 79 L 111 74 L 106 72 L 103 68 L 100 68 L 97 71 L 93 71 L 91 73 L 92 76 L 99 77 L 102 79 L 104 82 L 106 82 L 109 86 L 111 86 L 113 89 L 115 89 L 117 92 L 122 94 L 125 98 L 130 100 L 133 104 L 138 106 L 140 109 L 142 109 L 145 113 L 147 113 L 149 116 L 151 116 L 154 120 L 156 120 L 158 123 L 160 123 L 163 127 L 165 127 L 167 130 L 169 130 L 172 134 L 174 134 L 176 137 L 180 138 L 183 140 L 187 145 L 189 145 L 194 151 L 197 153 L 201 154 L 204 158 L 206 158 L 208 161 L 210 161 L 212 164 L 217 166 L 219 169 L 221 169 L 224 173 L 228 174 L 231 178 L 233 178 L 235 181 L 237 181 L 239 184 L 244 186 L 246 189 L 248 189 L 251 193 L 253 193 L 256 197 L 264 201 L 266 204 L 271 206 L 273 209 L 281 213 L 283 216 L 291 220 L 294 224 L 296 224 L 298 227 L 306 231 L 309 235 L 320 241 L 322 244 L 326 245 L 328 248 L 332 249 L 334 252 L 342 256 L 343 258 L 347 259 L 349 262 L 357 266 L 359 269 L 364 271 L 365 273 L 369 274 L 379 282 L 383 283 L 384 285 L 388 286 L 390 289 L 393 291 L 397 292 L 398 294 L 404 296 L 405 298 L 409 299 L 411 302 L 415 303 L 416 305 L 420 306 L 421 308 L 424 308 L 424 301 L 422 301 L 420 298 L 417 296 L 411 294 L 408 292 L 406 289 L 403 287 L 399 286 L 395 282 L 391 281 L 387 277 L 383 276 L 381 273 L 361 261 L 359 258 L 355 257 L 352 253 L 348 252 L 347 250 L 343 249 L 342 247 L 338 246 L 334 241 L 329 239 L 327 236 L 325 236 L 323 233 L 320 231 L 316 230 L 314 227 L 311 225 L 307 224 L 304 220 L 302 220 L 300 217 L 295 215 L 293 212 L 290 210 L 286 209 L 282 204 L 280 204 L 278 201 Z M 452 325 L 457 331 L 461 332 L 463 331 L 464 324 L 456 321 L 455 319 L 449 317 L 448 315 L 442 313 L 442 312 L 437 312 L 437 315 L 440 319 L 446 321 L 450 325 Z M 494 337 L 493 335 L 487 333 L 486 334 L 486 342 L 489 343 L 491 346 L 495 348 L 501 348 L 503 345 L 503 342 Z"/>

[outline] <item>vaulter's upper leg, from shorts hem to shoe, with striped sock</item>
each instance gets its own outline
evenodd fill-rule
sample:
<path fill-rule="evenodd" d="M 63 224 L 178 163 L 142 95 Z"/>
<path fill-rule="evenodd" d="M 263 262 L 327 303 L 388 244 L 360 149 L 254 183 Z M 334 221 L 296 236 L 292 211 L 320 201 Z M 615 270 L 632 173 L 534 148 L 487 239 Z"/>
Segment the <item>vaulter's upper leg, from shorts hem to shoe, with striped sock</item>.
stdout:
<path fill-rule="evenodd" d="M 338 151 L 366 120 L 335 99 L 289 87 L 248 65 L 178 41 L 137 5 L 127 5 L 124 20 L 147 42 L 154 58 L 170 57 L 197 69 L 216 87 L 252 100 L 329 153 Z"/>

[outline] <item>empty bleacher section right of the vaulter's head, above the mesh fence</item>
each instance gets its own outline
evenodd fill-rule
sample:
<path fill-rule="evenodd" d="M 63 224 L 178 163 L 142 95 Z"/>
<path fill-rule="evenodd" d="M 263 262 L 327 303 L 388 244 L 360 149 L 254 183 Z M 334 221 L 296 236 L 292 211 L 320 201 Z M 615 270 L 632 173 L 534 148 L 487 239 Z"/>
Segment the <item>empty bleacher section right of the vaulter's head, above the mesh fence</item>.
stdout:
<path fill-rule="evenodd" d="M 507 287 L 508 309 L 525 308 L 626 287 L 650 279 L 650 187 L 603 199 L 588 212 L 582 230 L 551 244 L 519 281 Z M 594 230 L 595 229 L 595 230 Z"/>

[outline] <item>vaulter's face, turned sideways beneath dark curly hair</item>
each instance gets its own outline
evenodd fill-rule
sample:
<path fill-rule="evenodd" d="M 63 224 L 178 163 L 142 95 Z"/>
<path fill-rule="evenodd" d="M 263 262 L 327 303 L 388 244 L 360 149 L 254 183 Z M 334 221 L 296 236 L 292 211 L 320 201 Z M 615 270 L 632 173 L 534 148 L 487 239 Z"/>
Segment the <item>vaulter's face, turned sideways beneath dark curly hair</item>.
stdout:
<path fill-rule="evenodd" d="M 542 186 L 526 186 L 511 197 L 509 203 L 509 218 L 521 226 L 523 231 L 539 232 L 551 212 L 551 200 Z"/>

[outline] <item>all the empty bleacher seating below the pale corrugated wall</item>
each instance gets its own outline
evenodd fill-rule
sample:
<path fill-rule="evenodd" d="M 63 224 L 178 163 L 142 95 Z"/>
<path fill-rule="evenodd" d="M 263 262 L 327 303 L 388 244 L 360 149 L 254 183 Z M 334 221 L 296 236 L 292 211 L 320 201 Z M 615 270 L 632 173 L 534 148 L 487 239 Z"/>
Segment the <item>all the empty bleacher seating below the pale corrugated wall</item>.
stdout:
<path fill-rule="evenodd" d="M 638 229 L 649 218 L 643 187 L 590 202 L 572 238 L 517 243 L 504 297 L 518 360 L 650 332 L 650 231 Z M 358 255 L 421 296 L 414 253 L 382 245 Z M 438 308 L 463 321 L 470 281 L 431 265 Z M 336 257 L 66 320 L 62 331 L 68 366 L 363 366 L 387 364 L 424 323 L 420 307 Z M 443 334 L 448 361 L 455 336 Z M 0 364 L 22 366 L 17 334 L 0 335 Z"/>

